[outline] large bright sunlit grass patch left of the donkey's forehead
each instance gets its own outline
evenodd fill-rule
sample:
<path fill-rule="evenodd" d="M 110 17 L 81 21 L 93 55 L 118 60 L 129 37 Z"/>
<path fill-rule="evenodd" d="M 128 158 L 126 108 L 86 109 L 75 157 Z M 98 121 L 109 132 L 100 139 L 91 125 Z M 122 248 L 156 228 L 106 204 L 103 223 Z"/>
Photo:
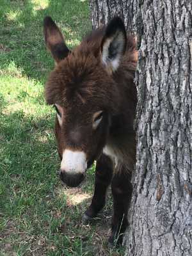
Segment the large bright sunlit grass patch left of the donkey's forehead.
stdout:
<path fill-rule="evenodd" d="M 28 79 L 20 67 L 11 61 L 1 70 L 1 95 L 6 99 L 6 106 L 2 109 L 5 115 L 13 115 L 18 111 L 23 116 L 43 117 L 50 108 L 45 105 L 44 84 L 35 79 Z M 20 112 L 20 113 L 21 113 Z"/>

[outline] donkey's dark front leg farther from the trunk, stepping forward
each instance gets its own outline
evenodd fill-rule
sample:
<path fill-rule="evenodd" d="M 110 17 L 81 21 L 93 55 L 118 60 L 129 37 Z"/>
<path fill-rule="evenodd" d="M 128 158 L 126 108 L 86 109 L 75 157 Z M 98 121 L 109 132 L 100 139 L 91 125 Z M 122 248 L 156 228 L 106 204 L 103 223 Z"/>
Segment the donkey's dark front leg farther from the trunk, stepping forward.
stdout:
<path fill-rule="evenodd" d="M 102 154 L 97 160 L 95 169 L 95 191 L 92 198 L 92 204 L 84 212 L 82 221 L 87 224 L 88 221 L 97 216 L 97 213 L 104 207 L 106 201 L 106 191 L 113 176 L 113 163 L 111 159 Z"/>

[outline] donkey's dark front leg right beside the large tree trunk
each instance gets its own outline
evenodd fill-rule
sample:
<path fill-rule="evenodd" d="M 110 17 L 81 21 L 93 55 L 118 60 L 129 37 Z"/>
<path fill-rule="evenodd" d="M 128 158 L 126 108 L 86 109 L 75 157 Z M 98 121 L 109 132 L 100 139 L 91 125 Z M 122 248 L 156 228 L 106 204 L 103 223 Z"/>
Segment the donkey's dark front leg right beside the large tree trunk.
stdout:
<path fill-rule="evenodd" d="M 131 174 L 128 170 L 122 170 L 113 176 L 111 183 L 113 194 L 113 218 L 109 245 L 122 244 L 123 235 L 127 228 L 127 211 L 131 201 L 132 184 Z"/>

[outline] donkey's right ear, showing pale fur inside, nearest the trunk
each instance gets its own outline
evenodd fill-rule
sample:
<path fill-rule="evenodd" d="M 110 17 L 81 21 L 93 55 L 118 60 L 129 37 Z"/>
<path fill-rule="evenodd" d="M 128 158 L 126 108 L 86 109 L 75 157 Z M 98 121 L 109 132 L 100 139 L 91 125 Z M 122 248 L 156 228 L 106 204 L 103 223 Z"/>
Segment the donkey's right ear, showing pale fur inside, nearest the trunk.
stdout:
<path fill-rule="evenodd" d="M 115 17 L 109 22 L 100 45 L 102 62 L 107 66 L 108 70 L 112 72 L 117 70 L 126 46 L 127 35 L 124 22 L 119 17 Z"/>

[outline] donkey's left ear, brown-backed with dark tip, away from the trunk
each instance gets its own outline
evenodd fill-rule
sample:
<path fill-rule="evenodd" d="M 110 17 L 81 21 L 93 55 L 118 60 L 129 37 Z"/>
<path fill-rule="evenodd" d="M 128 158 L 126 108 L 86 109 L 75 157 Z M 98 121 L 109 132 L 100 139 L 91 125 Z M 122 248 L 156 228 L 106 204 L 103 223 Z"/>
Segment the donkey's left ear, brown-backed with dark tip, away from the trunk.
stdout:
<path fill-rule="evenodd" d="M 56 63 L 59 63 L 67 57 L 70 51 L 65 44 L 63 35 L 58 26 L 56 26 L 49 16 L 44 19 L 44 36 L 47 49 L 51 51 L 52 57 Z"/>

